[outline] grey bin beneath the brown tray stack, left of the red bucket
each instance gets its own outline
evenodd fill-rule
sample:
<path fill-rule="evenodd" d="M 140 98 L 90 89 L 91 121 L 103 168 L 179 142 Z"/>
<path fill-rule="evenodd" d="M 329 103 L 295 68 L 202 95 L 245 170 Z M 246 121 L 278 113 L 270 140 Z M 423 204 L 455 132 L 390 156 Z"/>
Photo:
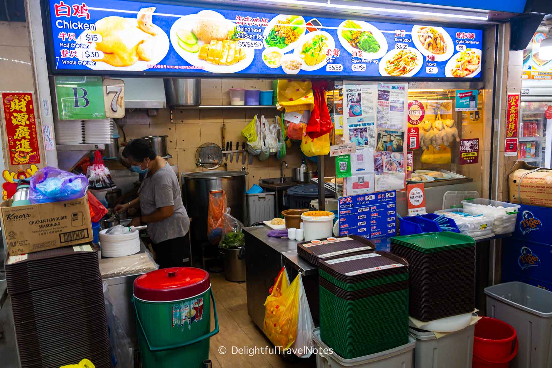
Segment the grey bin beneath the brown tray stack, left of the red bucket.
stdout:
<path fill-rule="evenodd" d="M 416 338 L 414 367 L 471 368 L 475 324 L 436 338 L 431 331 L 409 328 Z"/>

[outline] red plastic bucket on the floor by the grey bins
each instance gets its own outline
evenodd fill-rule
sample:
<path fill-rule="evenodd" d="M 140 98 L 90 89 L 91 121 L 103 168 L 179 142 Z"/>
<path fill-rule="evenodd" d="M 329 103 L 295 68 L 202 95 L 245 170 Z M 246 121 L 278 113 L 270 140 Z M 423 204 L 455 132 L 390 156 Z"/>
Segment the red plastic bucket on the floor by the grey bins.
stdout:
<path fill-rule="evenodd" d="M 517 351 L 518 339 L 512 326 L 500 319 L 481 317 L 475 325 L 473 368 L 508 368 Z"/>

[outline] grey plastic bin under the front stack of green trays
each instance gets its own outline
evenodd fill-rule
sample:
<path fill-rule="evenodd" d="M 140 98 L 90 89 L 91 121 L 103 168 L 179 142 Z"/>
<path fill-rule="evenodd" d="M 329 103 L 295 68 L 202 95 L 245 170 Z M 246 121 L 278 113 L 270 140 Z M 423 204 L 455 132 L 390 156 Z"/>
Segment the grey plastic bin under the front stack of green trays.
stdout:
<path fill-rule="evenodd" d="M 312 331 L 316 354 L 317 368 L 338 368 L 338 367 L 358 367 L 358 368 L 410 368 L 412 367 L 413 350 L 416 345 L 416 338 L 408 334 L 408 343 L 397 346 L 395 349 L 381 351 L 370 355 L 359 356 L 354 359 L 344 359 L 336 353 L 328 354 L 330 349 L 328 345 L 322 342 L 320 338 L 320 327 Z"/>

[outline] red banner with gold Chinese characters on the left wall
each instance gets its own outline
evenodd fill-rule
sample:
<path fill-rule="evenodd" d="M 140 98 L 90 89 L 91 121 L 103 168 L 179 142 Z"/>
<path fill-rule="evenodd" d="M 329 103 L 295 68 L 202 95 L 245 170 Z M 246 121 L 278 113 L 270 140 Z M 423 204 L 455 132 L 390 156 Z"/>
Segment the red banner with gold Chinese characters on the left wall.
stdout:
<path fill-rule="evenodd" d="M 38 136 L 30 93 L 2 93 L 9 161 L 12 165 L 40 163 Z"/>

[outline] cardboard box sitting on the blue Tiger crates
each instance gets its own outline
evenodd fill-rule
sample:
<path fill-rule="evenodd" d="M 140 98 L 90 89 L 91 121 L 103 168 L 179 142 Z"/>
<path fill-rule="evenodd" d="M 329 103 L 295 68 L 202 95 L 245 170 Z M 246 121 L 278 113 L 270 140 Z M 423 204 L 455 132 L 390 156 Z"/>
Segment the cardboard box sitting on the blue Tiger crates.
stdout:
<path fill-rule="evenodd" d="M 552 207 L 552 169 L 536 169 L 524 161 L 514 164 L 508 175 L 510 202 Z"/>

